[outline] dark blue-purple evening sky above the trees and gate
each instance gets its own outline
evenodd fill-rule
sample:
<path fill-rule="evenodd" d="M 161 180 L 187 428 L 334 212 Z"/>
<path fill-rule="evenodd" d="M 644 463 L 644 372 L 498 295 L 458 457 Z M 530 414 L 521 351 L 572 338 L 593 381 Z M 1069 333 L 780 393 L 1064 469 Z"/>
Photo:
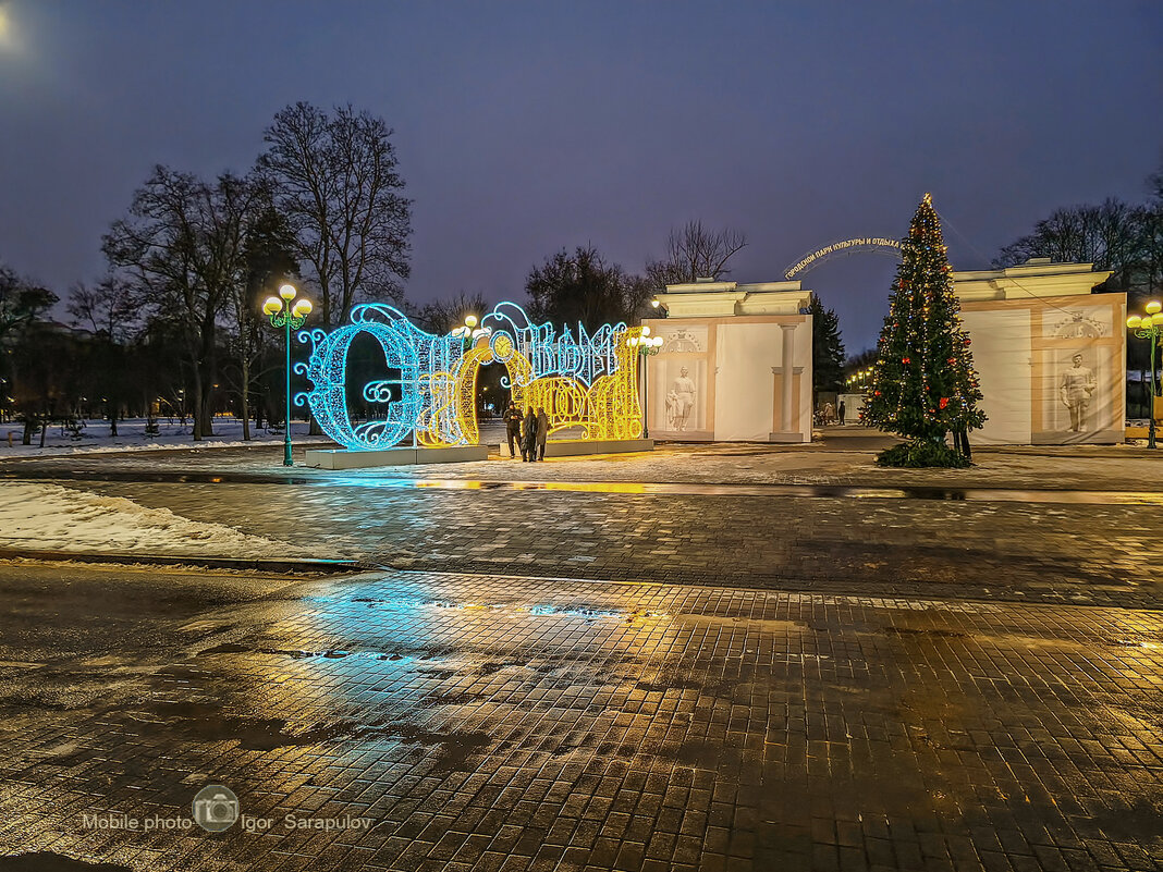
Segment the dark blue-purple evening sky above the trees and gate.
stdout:
<path fill-rule="evenodd" d="M 381 115 L 415 200 L 416 301 L 523 299 L 594 243 L 628 270 L 699 217 L 733 279 L 901 236 L 955 269 L 1163 164 L 1163 2 L 0 0 L 0 259 L 63 293 L 156 163 L 243 171 L 283 106 Z M 872 344 L 892 262 L 805 277 Z"/>

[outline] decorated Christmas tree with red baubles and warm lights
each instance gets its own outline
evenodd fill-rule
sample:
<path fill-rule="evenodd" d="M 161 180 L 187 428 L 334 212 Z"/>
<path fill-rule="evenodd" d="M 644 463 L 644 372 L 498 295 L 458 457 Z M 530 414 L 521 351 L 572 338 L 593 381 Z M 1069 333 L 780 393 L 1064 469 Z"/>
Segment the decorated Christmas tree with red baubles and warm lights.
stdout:
<path fill-rule="evenodd" d="M 926 194 L 901 241 L 863 413 L 866 423 L 909 442 L 884 452 L 879 463 L 968 465 L 968 431 L 985 423 L 985 413 L 977 407 L 982 391 L 959 313 L 941 220 Z M 946 445 L 950 433 L 956 450 Z"/>

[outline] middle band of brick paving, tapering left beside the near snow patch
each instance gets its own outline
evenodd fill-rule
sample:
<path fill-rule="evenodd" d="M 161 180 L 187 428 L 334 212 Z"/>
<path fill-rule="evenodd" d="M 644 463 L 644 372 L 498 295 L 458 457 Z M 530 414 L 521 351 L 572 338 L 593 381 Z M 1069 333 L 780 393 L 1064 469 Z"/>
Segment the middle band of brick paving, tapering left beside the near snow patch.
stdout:
<path fill-rule="evenodd" d="M 1157 607 L 1163 506 L 67 483 L 398 569 Z"/>

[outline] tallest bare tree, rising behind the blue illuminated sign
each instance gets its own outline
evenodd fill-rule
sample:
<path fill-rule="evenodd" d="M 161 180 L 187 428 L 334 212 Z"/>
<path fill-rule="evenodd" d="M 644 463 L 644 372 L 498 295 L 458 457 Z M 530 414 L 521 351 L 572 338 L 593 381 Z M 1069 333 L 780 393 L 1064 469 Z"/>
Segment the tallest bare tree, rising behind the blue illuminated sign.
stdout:
<path fill-rule="evenodd" d="M 412 203 L 401 196 L 392 130 L 350 105 L 298 102 L 274 116 L 258 159 L 298 256 L 309 265 L 324 327 L 361 299 L 399 300 L 408 277 Z"/>

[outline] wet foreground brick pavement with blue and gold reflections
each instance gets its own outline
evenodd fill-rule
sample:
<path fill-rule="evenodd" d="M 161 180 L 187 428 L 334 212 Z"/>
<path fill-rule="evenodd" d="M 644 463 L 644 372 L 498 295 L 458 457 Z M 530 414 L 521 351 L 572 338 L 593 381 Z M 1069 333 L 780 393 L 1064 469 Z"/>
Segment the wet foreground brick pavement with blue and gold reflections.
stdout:
<path fill-rule="evenodd" d="M 0 870 L 1163 863 L 1157 610 L 463 572 L 3 580 L 0 848 L 24 859 Z M 188 817 L 209 784 L 256 831 L 85 825 Z"/>

